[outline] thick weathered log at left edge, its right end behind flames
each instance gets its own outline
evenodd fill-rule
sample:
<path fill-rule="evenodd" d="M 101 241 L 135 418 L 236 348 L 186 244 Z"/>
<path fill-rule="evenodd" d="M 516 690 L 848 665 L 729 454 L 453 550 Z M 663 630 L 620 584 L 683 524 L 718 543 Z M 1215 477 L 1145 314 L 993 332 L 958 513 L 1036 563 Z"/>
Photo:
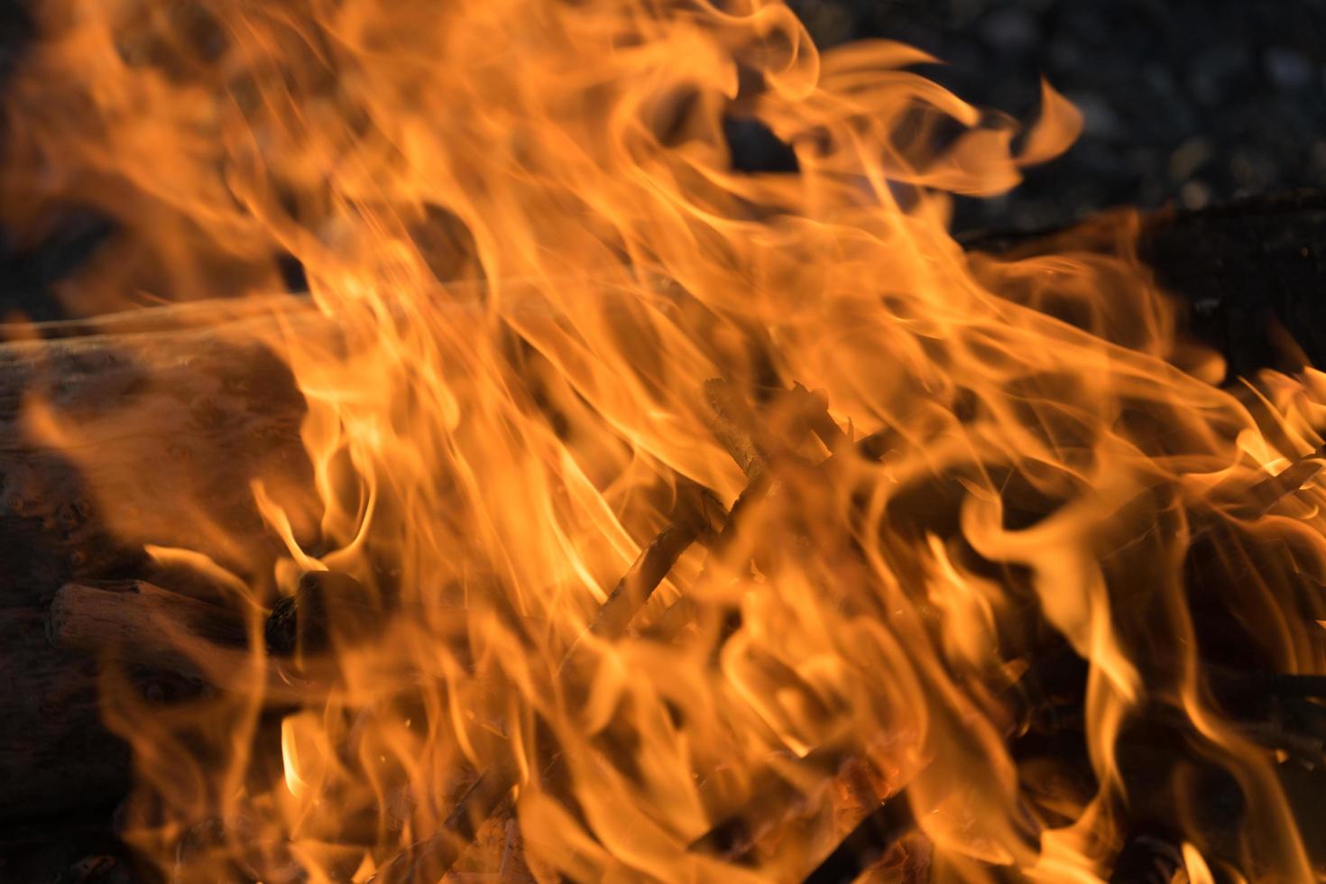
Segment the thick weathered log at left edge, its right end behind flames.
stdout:
<path fill-rule="evenodd" d="M 229 321 L 233 311 L 217 306 L 216 327 L 200 326 L 207 310 L 195 305 L 183 318 L 163 309 L 135 321 L 150 331 L 0 345 L 0 607 L 46 603 L 70 580 L 142 575 L 145 543 L 269 573 L 278 550 L 249 482 L 310 474 L 305 407 L 256 339 L 289 319 L 267 310 Z M 74 429 L 73 449 L 34 432 L 34 402 Z"/>

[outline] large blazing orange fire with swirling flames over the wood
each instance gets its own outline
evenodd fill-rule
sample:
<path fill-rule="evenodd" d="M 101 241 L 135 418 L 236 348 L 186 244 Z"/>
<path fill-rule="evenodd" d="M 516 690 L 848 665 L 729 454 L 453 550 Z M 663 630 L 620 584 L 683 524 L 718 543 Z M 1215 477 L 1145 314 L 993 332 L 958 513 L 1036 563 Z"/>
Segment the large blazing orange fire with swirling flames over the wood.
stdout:
<path fill-rule="evenodd" d="M 1219 386 L 1127 254 L 961 252 L 948 195 L 1077 134 L 1053 89 L 1021 131 L 923 53 L 821 53 L 765 0 L 41 15 L 7 220 L 121 224 L 69 304 L 271 293 L 280 254 L 313 304 L 225 331 L 305 407 L 306 463 L 247 469 L 252 535 L 196 474 L 168 518 L 127 509 L 151 451 L 29 412 L 125 538 L 247 618 L 236 689 L 107 698 L 125 836 L 174 880 L 801 880 L 879 814 L 899 880 L 1097 880 L 1130 814 L 1189 880 L 1311 876 L 1185 575 L 1217 538 L 1231 640 L 1322 671 L 1326 497 L 1298 465 L 1326 387 Z M 797 171 L 733 171 L 724 118 Z M 273 681 L 264 618 L 300 592 L 325 623 L 300 608 Z M 1159 770 L 1130 738 L 1155 721 Z"/>

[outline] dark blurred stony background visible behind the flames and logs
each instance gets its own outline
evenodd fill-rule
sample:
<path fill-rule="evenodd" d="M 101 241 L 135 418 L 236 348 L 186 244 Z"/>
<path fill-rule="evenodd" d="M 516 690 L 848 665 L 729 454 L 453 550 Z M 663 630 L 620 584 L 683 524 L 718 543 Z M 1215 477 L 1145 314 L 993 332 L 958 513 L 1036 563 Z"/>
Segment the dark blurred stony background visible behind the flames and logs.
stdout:
<path fill-rule="evenodd" d="M 37 1 L 0 0 L 0 89 L 33 38 L 27 8 Z M 923 73 L 975 105 L 1030 121 L 1045 76 L 1083 111 L 1085 131 L 1066 155 L 1029 170 L 1012 193 L 959 200 L 957 232 L 1326 187 L 1326 0 L 790 4 L 821 46 L 890 37 L 931 52 L 947 64 Z M 733 130 L 736 162 L 777 166 L 777 150 L 770 156 L 768 142 L 749 135 Z M 77 211 L 36 244 L 0 229 L 0 314 L 57 318 L 49 286 L 111 229 Z M 297 268 L 288 277 L 300 284 Z"/>

